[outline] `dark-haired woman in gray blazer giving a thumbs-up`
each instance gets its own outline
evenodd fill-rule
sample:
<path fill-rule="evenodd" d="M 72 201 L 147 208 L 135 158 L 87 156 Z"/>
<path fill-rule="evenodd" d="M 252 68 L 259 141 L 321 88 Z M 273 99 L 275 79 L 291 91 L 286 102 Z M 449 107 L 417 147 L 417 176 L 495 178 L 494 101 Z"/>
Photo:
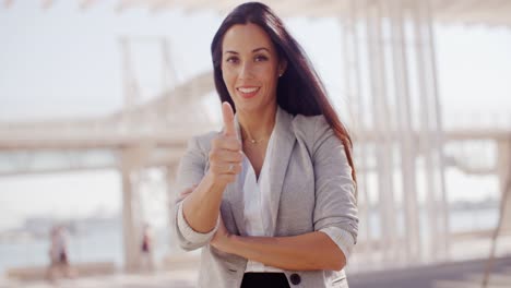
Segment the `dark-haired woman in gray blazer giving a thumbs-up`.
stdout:
<path fill-rule="evenodd" d="M 352 143 L 305 52 L 257 2 L 211 50 L 224 130 L 190 141 L 175 225 L 183 249 L 202 248 L 200 287 L 347 287 Z"/>

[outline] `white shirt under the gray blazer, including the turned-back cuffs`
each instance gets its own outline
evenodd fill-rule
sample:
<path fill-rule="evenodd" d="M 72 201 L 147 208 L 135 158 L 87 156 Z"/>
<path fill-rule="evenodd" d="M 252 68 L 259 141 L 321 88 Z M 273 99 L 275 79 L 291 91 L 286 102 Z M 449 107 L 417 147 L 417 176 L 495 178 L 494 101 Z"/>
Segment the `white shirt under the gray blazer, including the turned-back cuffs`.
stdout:
<path fill-rule="evenodd" d="M 243 223 L 247 233 L 249 236 L 260 236 L 260 237 L 273 237 L 274 224 L 272 223 L 271 205 L 270 205 L 270 181 L 269 169 L 272 167 L 272 161 L 275 160 L 272 158 L 274 149 L 274 137 L 273 132 L 270 136 L 270 141 L 266 147 L 266 154 L 264 157 L 264 163 L 259 175 L 259 181 L 255 178 L 255 172 L 253 170 L 250 160 L 247 156 L 243 155 L 242 169 L 238 175 L 238 182 L 240 187 L 243 188 Z M 278 160 L 278 159 L 276 159 Z M 209 239 L 216 232 L 218 228 L 218 221 L 216 227 L 207 232 L 200 233 L 194 231 L 185 219 L 182 214 L 182 202 L 178 207 L 178 228 L 182 236 L 191 242 L 200 242 L 205 239 Z M 319 230 L 328 235 L 332 241 L 343 251 L 346 256 L 346 261 L 349 257 L 353 247 L 355 245 L 355 239 L 353 236 L 341 228 L 337 227 L 326 227 Z M 247 268 L 245 272 L 283 272 L 280 268 L 266 266 L 260 262 L 248 261 Z"/>

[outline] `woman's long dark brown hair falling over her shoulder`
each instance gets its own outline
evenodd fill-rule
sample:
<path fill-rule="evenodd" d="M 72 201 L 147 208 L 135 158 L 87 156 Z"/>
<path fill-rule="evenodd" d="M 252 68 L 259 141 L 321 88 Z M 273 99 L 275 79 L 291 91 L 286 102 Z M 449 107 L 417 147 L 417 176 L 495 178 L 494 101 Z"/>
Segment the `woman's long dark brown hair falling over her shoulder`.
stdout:
<path fill-rule="evenodd" d="M 335 135 L 342 141 L 352 177 L 356 182 L 355 165 L 352 157 L 352 137 L 331 105 L 320 77 L 312 68 L 306 52 L 287 32 L 282 20 L 265 4 L 248 2 L 238 5 L 222 22 L 211 44 L 215 86 L 222 101 L 228 101 L 236 109 L 222 76 L 222 41 L 224 34 L 236 24 L 259 25 L 270 36 L 278 57 L 287 60 L 286 72 L 277 84 L 277 104 L 296 116 L 323 115 Z"/>

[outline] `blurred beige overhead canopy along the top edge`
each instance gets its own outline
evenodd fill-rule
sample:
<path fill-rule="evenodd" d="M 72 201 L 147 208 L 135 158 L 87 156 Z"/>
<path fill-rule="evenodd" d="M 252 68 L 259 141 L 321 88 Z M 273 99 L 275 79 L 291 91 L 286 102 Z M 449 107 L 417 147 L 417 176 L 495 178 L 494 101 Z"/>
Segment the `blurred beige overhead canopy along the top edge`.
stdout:
<path fill-rule="evenodd" d="M 427 0 L 263 0 L 282 16 L 340 16 L 353 11 L 364 13 L 366 2 L 393 2 L 402 5 L 414 5 Z M 511 26 L 511 1 L 509 0 L 429 0 L 432 16 L 447 24 L 487 24 Z M 94 3 L 94 0 L 83 2 Z M 186 11 L 213 10 L 227 13 L 241 0 L 119 0 L 118 10 L 132 8 L 148 9 L 153 12 L 181 8 Z"/>

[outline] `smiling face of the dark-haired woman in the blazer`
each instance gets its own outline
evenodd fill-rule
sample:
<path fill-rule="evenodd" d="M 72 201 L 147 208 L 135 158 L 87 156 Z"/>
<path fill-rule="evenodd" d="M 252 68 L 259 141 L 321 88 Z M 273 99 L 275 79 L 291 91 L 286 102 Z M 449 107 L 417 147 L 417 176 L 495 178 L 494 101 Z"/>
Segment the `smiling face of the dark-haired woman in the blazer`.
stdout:
<path fill-rule="evenodd" d="M 255 24 L 234 25 L 222 44 L 222 74 L 236 110 L 257 112 L 276 105 L 280 61 L 270 36 Z"/>

